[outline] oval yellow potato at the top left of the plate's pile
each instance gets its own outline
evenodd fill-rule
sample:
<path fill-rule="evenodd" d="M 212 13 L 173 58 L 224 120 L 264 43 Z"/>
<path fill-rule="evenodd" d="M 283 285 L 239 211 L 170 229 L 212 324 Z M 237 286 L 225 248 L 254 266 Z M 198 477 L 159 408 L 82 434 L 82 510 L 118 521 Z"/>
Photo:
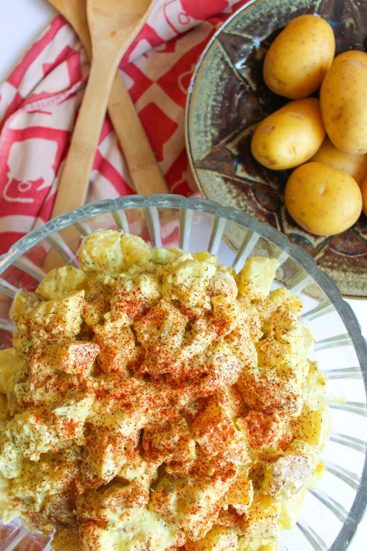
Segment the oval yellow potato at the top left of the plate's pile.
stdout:
<path fill-rule="evenodd" d="M 266 53 L 264 80 L 273 92 L 300 99 L 322 83 L 335 54 L 331 26 L 316 15 L 300 15 L 288 23 Z"/>

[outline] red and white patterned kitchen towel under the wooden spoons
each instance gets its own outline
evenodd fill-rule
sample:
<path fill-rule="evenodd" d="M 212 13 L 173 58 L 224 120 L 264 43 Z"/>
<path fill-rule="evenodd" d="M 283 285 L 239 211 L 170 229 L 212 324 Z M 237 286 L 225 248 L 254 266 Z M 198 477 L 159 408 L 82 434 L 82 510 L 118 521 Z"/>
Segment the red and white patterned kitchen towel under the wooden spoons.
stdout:
<path fill-rule="evenodd" d="M 196 191 L 184 143 L 185 99 L 195 64 L 213 33 L 247 1 L 156 0 L 120 62 L 173 193 Z M 60 15 L 0 86 L 0 253 L 50 218 L 88 72 L 80 41 Z M 87 202 L 130 193 L 132 181 L 106 117 Z"/>

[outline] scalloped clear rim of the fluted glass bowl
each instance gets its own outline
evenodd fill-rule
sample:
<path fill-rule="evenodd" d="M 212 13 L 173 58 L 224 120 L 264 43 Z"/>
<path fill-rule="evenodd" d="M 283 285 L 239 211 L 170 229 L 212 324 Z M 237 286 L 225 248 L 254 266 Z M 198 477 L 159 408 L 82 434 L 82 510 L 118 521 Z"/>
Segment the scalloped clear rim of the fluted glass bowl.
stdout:
<path fill-rule="evenodd" d="M 10 247 L 7 253 L 0 256 L 0 276 L 16 261 L 21 255 L 34 247 L 42 240 L 51 236 L 53 233 L 63 230 L 75 223 L 80 223 L 86 218 L 92 218 L 96 215 L 107 214 L 110 212 L 134 209 L 134 208 L 174 208 L 194 210 L 195 212 L 211 214 L 224 218 L 230 222 L 250 229 L 261 237 L 271 241 L 281 250 L 285 251 L 289 257 L 299 264 L 300 267 L 308 272 L 320 288 L 324 291 L 327 298 L 335 307 L 338 315 L 341 317 L 347 328 L 350 339 L 352 340 L 355 353 L 360 364 L 363 381 L 367 397 L 367 343 L 361 334 L 361 329 L 357 317 L 350 305 L 343 300 L 342 294 L 333 280 L 323 271 L 321 271 L 311 256 L 308 255 L 298 245 L 292 244 L 288 237 L 269 224 L 259 222 L 250 214 L 244 213 L 233 207 L 223 207 L 220 203 L 196 197 L 183 197 L 180 195 L 158 194 L 150 197 L 144 195 L 129 195 L 118 197 L 116 199 L 105 199 L 96 203 L 91 203 L 75 209 L 73 212 L 61 214 L 57 218 L 50 220 L 45 225 L 31 230 L 27 235 L 21 237 L 14 245 Z M 367 454 L 363 473 L 360 479 L 360 485 L 356 490 L 356 496 L 348 514 L 348 520 L 343 524 L 341 531 L 332 543 L 329 551 L 344 551 L 352 540 L 358 523 L 361 521 L 367 506 Z M 351 522 L 352 521 L 352 522 Z"/>

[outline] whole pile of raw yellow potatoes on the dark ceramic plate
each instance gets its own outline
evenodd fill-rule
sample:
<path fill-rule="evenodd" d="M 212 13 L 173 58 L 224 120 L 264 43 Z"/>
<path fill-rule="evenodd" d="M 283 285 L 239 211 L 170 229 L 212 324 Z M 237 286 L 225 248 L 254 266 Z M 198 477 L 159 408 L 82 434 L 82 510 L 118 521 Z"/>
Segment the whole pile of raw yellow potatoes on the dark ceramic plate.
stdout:
<path fill-rule="evenodd" d="M 267 168 L 297 167 L 286 207 L 317 235 L 341 233 L 362 209 L 367 214 L 367 53 L 334 55 L 325 19 L 301 15 L 288 23 L 263 72 L 267 87 L 293 101 L 261 121 L 251 140 L 252 154 Z M 320 99 L 307 97 L 320 86 Z"/>

